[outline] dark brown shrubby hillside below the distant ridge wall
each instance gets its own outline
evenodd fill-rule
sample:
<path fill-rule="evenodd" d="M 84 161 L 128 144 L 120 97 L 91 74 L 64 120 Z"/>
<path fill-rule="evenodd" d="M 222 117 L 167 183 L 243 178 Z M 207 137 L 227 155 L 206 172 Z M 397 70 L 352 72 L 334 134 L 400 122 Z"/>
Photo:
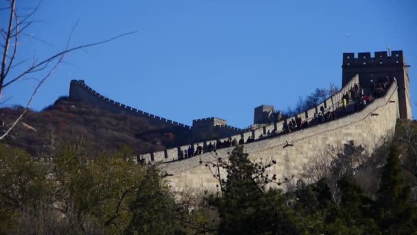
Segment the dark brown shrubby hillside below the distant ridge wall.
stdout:
<path fill-rule="evenodd" d="M 0 109 L 1 131 L 22 110 L 22 107 Z M 49 155 L 62 144 L 84 146 L 89 153 L 119 150 L 122 145 L 132 147 L 135 153 L 147 153 L 187 144 L 190 139 L 191 132 L 184 128 L 150 124 L 143 117 L 112 113 L 61 97 L 43 111 L 28 111 L 6 141 L 33 155 Z"/>

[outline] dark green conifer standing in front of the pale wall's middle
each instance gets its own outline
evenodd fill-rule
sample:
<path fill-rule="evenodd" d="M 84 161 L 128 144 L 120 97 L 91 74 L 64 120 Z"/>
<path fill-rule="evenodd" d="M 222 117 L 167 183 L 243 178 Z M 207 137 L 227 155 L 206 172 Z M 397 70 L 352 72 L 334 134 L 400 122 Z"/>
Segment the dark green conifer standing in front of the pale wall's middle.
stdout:
<path fill-rule="evenodd" d="M 213 199 L 219 208 L 219 234 L 291 234 L 294 224 L 287 198 L 280 190 L 265 192 L 265 168 L 252 163 L 243 147 L 237 147 L 225 167 L 228 172 L 222 184 L 222 197 Z"/>

